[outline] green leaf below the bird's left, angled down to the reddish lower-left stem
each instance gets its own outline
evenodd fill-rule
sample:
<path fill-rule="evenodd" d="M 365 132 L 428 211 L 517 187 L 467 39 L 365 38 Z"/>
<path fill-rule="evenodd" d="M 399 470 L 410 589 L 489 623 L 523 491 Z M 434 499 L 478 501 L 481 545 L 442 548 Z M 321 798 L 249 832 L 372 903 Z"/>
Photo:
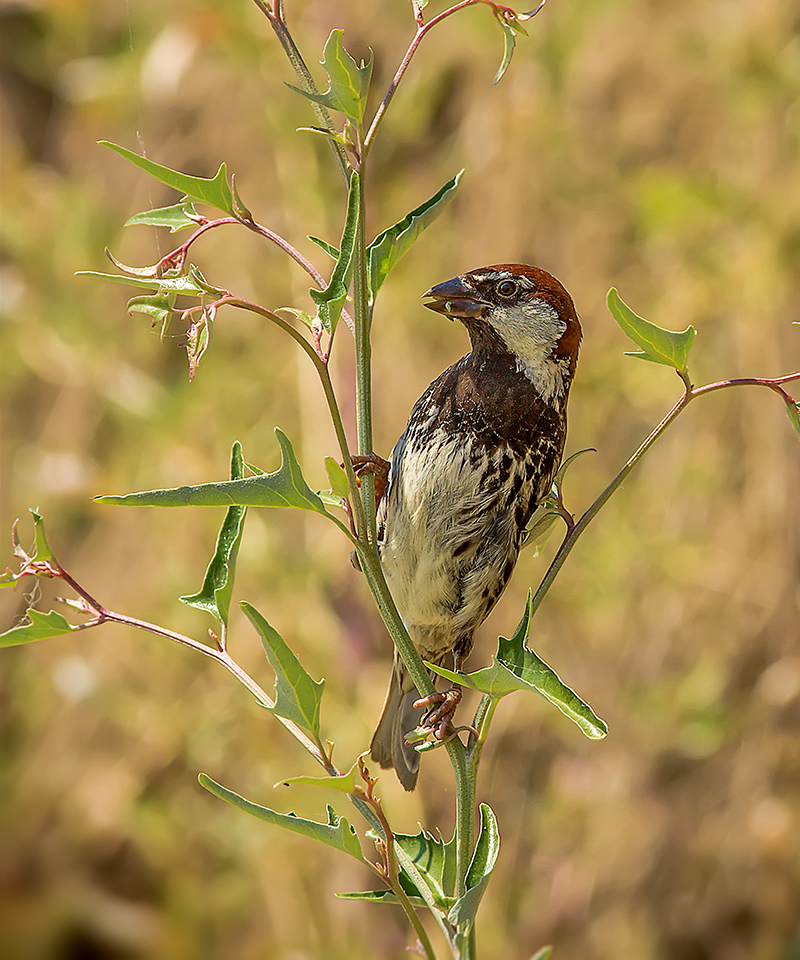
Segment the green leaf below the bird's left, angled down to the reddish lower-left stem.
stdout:
<path fill-rule="evenodd" d="M 273 713 L 307 730 L 319 743 L 319 709 L 325 681 L 314 680 L 308 674 L 289 644 L 255 607 L 245 601 L 239 606 L 255 627 L 269 665 L 275 671 Z"/>

